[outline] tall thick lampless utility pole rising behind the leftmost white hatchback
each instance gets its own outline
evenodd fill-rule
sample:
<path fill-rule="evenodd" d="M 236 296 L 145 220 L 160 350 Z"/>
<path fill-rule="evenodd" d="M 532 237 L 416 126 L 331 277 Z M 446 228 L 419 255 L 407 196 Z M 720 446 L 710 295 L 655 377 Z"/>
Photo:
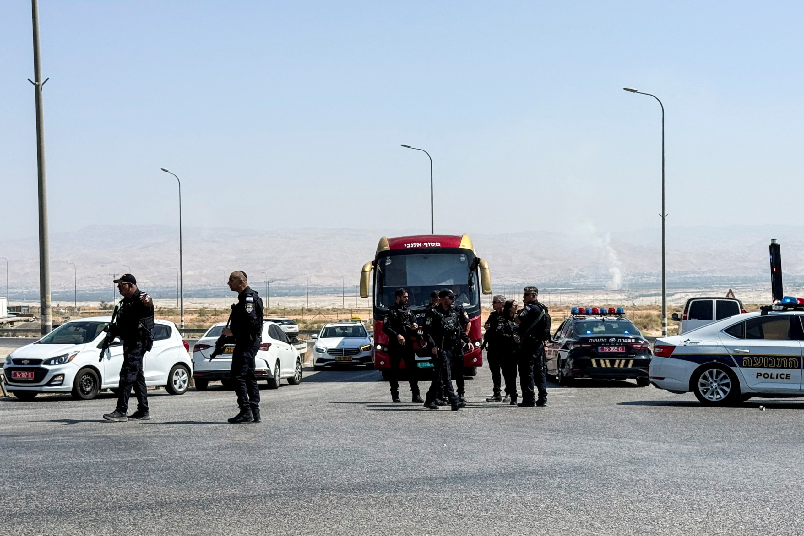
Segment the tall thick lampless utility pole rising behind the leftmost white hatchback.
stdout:
<path fill-rule="evenodd" d="M 39 0 L 31 0 L 31 19 L 34 27 L 34 85 L 36 103 L 36 168 L 39 184 L 39 317 L 42 335 L 53 329 L 50 296 L 50 243 L 47 234 L 47 173 L 45 173 L 45 124 L 42 110 L 42 62 L 39 57 Z"/>

